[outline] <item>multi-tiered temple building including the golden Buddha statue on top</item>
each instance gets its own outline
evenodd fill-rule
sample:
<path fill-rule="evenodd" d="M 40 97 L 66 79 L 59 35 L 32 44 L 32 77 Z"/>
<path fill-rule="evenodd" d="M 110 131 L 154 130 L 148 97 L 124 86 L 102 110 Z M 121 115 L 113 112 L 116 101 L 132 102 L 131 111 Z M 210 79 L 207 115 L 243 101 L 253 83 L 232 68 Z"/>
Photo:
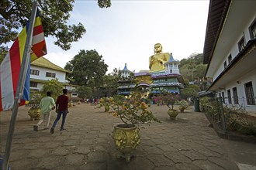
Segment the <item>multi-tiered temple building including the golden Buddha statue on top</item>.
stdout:
<path fill-rule="evenodd" d="M 131 74 L 132 72 L 125 64 L 120 71 L 118 94 L 129 95 L 135 87 L 135 82 L 137 87 L 149 90 L 153 95 L 166 92 L 180 93 L 185 82 L 179 73 L 178 64 L 179 61 L 173 58 L 172 53 L 162 53 L 162 46 L 157 43 L 154 45 L 154 55 L 149 59 L 150 70 L 140 70 L 138 73 Z"/>

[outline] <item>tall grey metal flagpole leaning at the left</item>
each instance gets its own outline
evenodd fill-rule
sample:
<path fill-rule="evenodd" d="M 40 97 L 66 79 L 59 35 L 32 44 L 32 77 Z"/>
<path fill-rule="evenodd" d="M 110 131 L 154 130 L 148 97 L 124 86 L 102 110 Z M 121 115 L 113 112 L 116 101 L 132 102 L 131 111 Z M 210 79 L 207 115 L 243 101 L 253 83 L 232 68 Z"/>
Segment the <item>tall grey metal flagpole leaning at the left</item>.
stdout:
<path fill-rule="evenodd" d="M 19 82 L 16 88 L 16 96 L 14 98 L 14 104 L 12 108 L 12 117 L 9 124 L 9 133 L 8 133 L 6 145 L 5 145 L 5 157 L 3 160 L 2 170 L 8 170 L 8 166 L 9 166 L 9 157 L 10 157 L 10 150 L 12 147 L 12 137 L 15 129 L 16 117 L 17 117 L 19 103 L 22 97 L 22 92 L 23 92 L 23 88 L 26 80 L 28 63 L 30 62 L 30 49 L 31 49 L 31 42 L 33 37 L 33 26 L 36 18 L 36 7 L 37 7 L 37 2 L 35 0 L 33 2 L 32 13 L 29 19 L 29 29 L 27 32 L 26 45 L 25 45 L 25 49 L 22 57 L 22 65 L 19 73 Z"/>

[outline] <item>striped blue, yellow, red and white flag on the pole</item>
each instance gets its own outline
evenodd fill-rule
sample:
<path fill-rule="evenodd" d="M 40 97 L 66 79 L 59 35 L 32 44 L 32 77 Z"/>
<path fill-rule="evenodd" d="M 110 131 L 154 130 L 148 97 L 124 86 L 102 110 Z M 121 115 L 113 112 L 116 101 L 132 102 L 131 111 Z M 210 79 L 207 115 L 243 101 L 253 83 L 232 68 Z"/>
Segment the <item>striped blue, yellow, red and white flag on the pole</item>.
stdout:
<path fill-rule="evenodd" d="M 9 53 L 6 54 L 0 66 L 0 111 L 12 109 L 16 88 L 19 81 L 19 73 L 22 64 L 22 57 L 26 44 L 29 23 L 22 29 L 19 36 L 13 42 Z M 36 19 L 33 26 L 33 38 L 31 45 L 30 62 L 47 54 L 46 42 L 44 40 L 43 26 L 39 17 L 39 10 L 36 12 Z M 24 105 L 25 100 L 29 100 L 29 73 L 30 63 L 26 73 L 26 81 L 22 93 L 22 101 L 19 105 Z"/>

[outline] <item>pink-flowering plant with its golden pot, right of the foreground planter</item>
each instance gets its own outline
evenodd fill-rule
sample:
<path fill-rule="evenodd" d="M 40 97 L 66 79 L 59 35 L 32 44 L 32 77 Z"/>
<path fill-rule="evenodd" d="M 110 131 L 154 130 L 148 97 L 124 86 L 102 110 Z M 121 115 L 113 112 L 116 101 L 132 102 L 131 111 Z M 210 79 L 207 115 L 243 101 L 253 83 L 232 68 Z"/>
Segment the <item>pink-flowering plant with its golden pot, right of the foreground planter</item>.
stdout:
<path fill-rule="evenodd" d="M 171 120 L 175 120 L 178 116 L 178 110 L 174 109 L 175 103 L 179 100 L 178 94 L 175 93 L 163 93 L 160 94 L 158 97 L 154 98 L 154 101 L 157 104 L 164 104 L 166 105 L 168 109 L 168 114 L 171 118 Z"/>

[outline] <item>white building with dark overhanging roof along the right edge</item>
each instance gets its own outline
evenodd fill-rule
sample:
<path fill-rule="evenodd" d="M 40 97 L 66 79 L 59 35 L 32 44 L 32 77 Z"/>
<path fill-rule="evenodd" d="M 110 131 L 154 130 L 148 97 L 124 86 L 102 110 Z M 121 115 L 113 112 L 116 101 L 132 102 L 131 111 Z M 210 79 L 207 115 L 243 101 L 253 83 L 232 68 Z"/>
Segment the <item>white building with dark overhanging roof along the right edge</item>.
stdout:
<path fill-rule="evenodd" d="M 203 50 L 208 91 L 256 115 L 256 2 L 210 0 Z"/>

